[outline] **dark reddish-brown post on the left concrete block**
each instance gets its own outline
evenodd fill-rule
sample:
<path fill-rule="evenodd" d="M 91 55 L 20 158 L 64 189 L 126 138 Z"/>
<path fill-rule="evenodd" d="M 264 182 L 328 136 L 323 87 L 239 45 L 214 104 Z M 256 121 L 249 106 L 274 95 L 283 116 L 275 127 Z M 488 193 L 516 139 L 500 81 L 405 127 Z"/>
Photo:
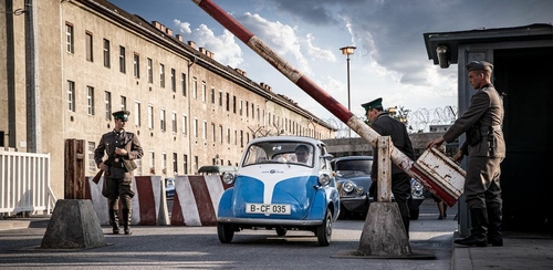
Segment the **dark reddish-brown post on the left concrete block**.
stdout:
<path fill-rule="evenodd" d="M 65 139 L 65 199 L 84 199 L 84 139 Z"/>

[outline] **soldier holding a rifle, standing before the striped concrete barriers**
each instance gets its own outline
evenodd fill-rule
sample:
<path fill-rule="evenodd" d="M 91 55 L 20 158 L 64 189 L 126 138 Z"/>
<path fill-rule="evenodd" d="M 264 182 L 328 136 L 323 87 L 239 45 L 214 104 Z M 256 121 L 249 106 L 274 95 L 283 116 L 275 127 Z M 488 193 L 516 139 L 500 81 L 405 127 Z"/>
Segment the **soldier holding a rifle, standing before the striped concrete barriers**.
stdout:
<path fill-rule="evenodd" d="M 107 198 L 109 221 L 113 233 L 119 233 L 118 207 L 119 198 L 123 205 L 123 220 L 125 235 L 131 235 L 131 214 L 133 210 L 132 189 L 133 170 L 136 168 L 134 159 L 143 156 L 138 136 L 125 131 L 128 121 L 128 111 L 113 113 L 114 129 L 102 135 L 98 146 L 94 150 L 94 160 L 100 169 L 105 172 L 102 195 Z M 104 153 L 107 159 L 104 158 Z"/>

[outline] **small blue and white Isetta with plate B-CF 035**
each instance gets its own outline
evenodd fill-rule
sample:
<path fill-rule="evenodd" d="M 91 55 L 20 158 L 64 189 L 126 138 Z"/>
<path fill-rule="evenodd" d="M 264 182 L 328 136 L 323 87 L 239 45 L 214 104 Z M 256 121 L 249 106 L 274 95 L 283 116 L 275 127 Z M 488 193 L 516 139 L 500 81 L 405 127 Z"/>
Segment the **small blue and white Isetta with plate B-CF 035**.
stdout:
<path fill-rule="evenodd" d="M 217 232 L 223 243 L 242 229 L 265 228 L 285 236 L 289 229 L 314 232 L 328 246 L 340 214 L 332 155 L 323 142 L 298 136 L 252 139 L 219 202 Z"/>

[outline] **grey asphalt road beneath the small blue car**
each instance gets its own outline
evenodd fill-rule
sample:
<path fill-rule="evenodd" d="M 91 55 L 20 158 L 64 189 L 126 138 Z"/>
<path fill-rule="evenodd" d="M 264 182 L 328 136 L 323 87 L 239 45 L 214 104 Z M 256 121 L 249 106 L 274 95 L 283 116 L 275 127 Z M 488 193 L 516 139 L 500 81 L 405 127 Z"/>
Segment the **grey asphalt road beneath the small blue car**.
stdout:
<path fill-rule="evenodd" d="M 418 220 L 411 220 L 409 245 L 434 259 L 337 258 L 355 251 L 364 220 L 338 220 L 332 242 L 319 247 L 307 231 L 237 232 L 232 243 L 220 243 L 216 227 L 134 226 L 132 236 L 109 235 L 107 246 L 86 250 L 40 249 L 45 226 L 0 231 L 0 268 L 11 269 L 450 269 L 451 238 L 457 208 L 446 220 L 427 199 Z"/>

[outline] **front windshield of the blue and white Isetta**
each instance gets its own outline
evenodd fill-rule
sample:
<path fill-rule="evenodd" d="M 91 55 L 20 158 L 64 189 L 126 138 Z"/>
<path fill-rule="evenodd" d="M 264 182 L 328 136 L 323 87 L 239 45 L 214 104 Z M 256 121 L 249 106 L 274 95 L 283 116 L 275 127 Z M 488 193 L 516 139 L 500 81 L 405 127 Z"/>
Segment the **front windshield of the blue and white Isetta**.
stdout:
<path fill-rule="evenodd" d="M 242 166 L 267 163 L 313 167 L 313 145 L 300 142 L 260 142 L 250 145 Z"/>

